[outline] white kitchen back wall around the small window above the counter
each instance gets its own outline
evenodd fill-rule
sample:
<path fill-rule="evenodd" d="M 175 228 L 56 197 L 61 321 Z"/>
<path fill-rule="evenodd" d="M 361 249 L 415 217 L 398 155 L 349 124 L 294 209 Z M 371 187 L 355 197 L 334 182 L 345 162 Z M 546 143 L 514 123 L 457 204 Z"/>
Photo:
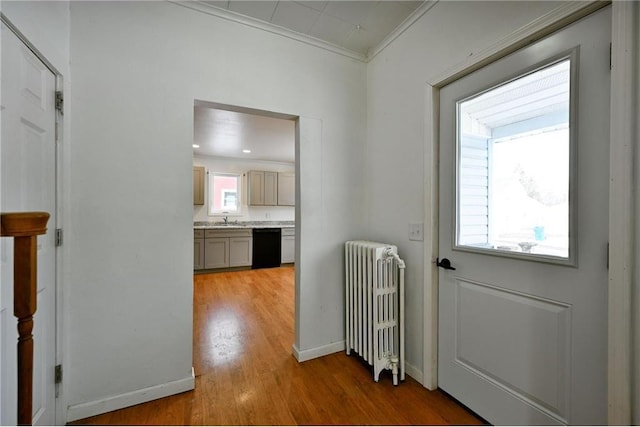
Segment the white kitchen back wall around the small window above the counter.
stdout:
<path fill-rule="evenodd" d="M 213 156 L 194 156 L 194 166 L 204 166 L 207 170 L 221 173 L 246 174 L 250 170 L 263 170 L 270 172 L 295 172 L 295 164 L 268 162 L 263 160 L 231 159 Z M 204 205 L 193 206 L 194 221 L 220 221 L 221 217 L 209 216 L 209 178 L 205 179 Z M 242 208 L 241 214 L 229 217 L 235 221 L 294 221 L 296 209 L 294 206 L 248 206 L 247 205 L 247 177 L 242 179 Z"/>

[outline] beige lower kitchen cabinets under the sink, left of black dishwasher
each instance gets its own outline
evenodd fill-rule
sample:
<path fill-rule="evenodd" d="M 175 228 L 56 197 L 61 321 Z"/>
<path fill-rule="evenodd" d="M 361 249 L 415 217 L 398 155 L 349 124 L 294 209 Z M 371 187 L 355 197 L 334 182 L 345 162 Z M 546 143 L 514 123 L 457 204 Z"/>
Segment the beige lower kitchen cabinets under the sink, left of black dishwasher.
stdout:
<path fill-rule="evenodd" d="M 203 231 L 201 267 L 194 259 L 194 270 L 251 266 L 253 234 L 251 229 L 242 230 L 195 230 Z M 196 242 L 194 233 L 194 258 Z"/>

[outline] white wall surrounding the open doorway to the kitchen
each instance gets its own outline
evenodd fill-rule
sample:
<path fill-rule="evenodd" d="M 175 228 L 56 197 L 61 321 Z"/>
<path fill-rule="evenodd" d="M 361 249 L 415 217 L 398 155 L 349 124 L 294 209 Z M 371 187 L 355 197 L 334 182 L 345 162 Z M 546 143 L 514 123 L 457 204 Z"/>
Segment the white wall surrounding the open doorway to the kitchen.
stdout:
<path fill-rule="evenodd" d="M 319 124 L 298 147 L 309 243 L 296 347 L 340 343 L 342 244 L 364 229 L 365 65 L 179 5 L 117 1 L 71 3 L 71 60 L 70 418 L 191 375 L 195 99 Z"/>

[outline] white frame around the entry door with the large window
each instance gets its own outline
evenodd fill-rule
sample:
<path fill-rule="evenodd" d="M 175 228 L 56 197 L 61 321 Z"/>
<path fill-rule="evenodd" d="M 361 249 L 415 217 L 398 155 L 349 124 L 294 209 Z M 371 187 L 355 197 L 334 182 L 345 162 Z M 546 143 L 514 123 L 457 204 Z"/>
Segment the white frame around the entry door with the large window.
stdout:
<path fill-rule="evenodd" d="M 640 24 L 637 2 L 565 2 L 517 29 L 468 60 L 427 80 L 425 84 L 424 187 L 424 337 L 423 385 L 438 388 L 438 185 L 440 89 L 447 84 L 612 4 L 612 71 L 610 106 L 609 277 L 608 277 L 608 422 L 629 425 L 632 416 L 632 309 L 634 206 L 634 36 Z M 631 48 L 630 48 L 631 47 Z M 637 49 L 637 45 L 636 45 Z M 606 284 L 603 284 L 605 286 Z"/>

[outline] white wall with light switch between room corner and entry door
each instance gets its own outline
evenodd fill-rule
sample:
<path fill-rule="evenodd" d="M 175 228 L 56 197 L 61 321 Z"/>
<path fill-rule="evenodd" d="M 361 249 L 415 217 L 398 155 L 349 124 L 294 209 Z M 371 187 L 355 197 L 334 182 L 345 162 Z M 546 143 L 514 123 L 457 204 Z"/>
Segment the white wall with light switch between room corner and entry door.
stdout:
<path fill-rule="evenodd" d="M 557 7 L 554 2 L 438 2 L 368 66 L 368 228 L 407 263 L 407 363 L 423 367 L 424 244 L 408 225 L 424 219 L 425 83 Z M 426 219 L 430 221 L 431 219 Z M 429 226 L 424 224 L 425 231 Z"/>

